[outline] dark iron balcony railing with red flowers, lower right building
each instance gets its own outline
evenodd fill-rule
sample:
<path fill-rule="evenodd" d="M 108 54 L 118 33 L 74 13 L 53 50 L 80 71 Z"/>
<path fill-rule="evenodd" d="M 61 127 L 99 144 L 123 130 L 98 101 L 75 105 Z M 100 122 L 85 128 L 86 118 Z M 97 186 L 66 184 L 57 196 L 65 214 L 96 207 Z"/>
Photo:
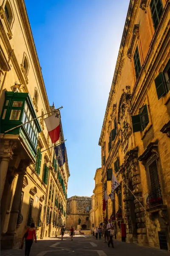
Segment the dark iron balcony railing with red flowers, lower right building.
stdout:
<path fill-rule="evenodd" d="M 147 207 L 151 208 L 159 204 L 163 204 L 161 188 L 154 189 L 151 191 L 146 200 Z"/>

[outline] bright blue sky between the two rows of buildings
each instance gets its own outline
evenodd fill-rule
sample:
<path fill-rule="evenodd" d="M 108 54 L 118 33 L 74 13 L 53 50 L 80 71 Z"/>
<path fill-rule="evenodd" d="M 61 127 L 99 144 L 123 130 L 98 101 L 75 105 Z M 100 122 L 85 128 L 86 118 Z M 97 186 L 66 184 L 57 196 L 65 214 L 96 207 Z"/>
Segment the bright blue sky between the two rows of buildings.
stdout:
<path fill-rule="evenodd" d="M 50 105 L 61 110 L 68 197 L 91 196 L 129 0 L 25 0 Z"/>

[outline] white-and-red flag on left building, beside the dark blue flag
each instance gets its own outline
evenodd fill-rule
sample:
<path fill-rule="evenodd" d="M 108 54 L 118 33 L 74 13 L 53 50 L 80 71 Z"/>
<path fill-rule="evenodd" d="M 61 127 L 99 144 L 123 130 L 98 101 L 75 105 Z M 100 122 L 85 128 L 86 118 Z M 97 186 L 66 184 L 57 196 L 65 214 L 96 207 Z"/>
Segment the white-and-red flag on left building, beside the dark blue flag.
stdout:
<path fill-rule="evenodd" d="M 60 122 L 59 122 L 59 111 L 55 112 L 53 115 L 44 119 L 45 125 L 48 130 L 48 134 L 50 136 L 51 142 L 55 143 L 59 140 L 59 132 L 60 132 Z"/>

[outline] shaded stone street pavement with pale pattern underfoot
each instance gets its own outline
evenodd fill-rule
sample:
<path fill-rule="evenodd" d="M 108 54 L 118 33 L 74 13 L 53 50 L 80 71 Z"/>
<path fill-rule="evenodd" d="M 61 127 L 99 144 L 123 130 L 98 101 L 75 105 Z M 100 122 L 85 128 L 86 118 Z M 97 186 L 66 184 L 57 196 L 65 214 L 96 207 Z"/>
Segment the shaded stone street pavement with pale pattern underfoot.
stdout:
<path fill-rule="evenodd" d="M 1 256 L 24 256 L 23 250 L 2 250 Z M 114 240 L 114 248 L 108 247 L 102 240 L 96 240 L 94 236 L 74 236 L 73 241 L 68 235 L 61 238 L 38 240 L 31 247 L 30 256 L 166 256 L 170 253 L 165 250 L 142 247 L 137 244 L 127 244 Z"/>

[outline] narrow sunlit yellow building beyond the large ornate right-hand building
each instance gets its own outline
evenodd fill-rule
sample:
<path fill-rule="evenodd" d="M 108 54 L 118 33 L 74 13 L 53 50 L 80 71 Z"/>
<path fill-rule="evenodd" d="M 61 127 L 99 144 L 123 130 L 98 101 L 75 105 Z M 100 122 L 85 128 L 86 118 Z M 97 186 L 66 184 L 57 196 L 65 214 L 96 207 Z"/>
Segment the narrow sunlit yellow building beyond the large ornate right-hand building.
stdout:
<path fill-rule="evenodd" d="M 102 168 L 96 169 L 94 176 L 95 188 L 94 188 L 94 228 L 99 227 L 102 222 Z"/>

